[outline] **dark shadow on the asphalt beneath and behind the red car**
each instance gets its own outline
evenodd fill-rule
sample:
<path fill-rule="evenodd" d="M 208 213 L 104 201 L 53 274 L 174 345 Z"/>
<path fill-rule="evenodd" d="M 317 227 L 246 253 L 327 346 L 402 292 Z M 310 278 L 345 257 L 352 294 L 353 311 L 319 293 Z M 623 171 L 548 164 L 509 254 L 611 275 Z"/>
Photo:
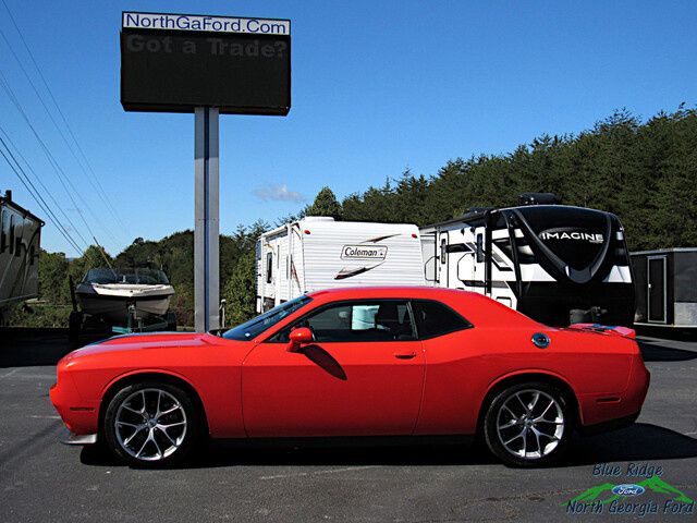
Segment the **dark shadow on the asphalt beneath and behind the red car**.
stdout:
<path fill-rule="evenodd" d="M 430 441 L 431 438 L 425 438 Z M 345 441 L 345 440 L 344 440 Z M 444 442 L 401 443 L 384 438 L 335 443 L 330 440 L 290 443 L 283 440 L 262 442 L 210 441 L 179 469 L 224 466 L 414 466 L 500 464 L 479 442 L 470 438 Z M 409 440 L 413 441 L 413 440 Z M 468 441 L 470 445 L 465 445 Z M 656 425 L 638 423 L 631 427 L 590 437 L 575 437 L 567 457 L 555 466 L 583 466 L 617 461 L 677 460 L 697 457 L 697 439 Z M 85 447 L 81 461 L 93 466 L 119 466 L 99 448 Z M 503 466 L 503 465 L 500 465 Z"/>

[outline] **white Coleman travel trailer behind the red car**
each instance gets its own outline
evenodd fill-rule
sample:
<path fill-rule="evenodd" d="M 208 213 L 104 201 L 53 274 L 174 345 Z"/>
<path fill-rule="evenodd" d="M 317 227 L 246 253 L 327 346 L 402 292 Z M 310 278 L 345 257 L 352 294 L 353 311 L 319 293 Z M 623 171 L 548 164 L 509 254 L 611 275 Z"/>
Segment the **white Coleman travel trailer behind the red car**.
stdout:
<path fill-rule="evenodd" d="M 307 217 L 257 242 L 257 312 L 338 287 L 423 285 L 418 228 Z"/>

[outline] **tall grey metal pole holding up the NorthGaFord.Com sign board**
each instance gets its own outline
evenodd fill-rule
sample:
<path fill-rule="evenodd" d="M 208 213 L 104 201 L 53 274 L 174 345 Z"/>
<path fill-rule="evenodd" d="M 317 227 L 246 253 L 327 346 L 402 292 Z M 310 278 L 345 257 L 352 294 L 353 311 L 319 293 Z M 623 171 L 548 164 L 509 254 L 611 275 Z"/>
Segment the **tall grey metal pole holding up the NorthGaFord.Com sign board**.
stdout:
<path fill-rule="evenodd" d="M 217 108 L 197 107 L 195 109 L 194 323 L 196 332 L 220 328 L 218 121 Z"/>

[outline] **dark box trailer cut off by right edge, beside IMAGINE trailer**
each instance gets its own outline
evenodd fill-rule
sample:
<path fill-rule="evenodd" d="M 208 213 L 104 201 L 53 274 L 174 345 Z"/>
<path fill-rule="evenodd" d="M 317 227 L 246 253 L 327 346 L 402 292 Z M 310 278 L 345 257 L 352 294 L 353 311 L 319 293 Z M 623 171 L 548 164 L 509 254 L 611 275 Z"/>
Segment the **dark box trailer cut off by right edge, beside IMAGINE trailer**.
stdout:
<path fill-rule="evenodd" d="M 632 253 L 636 325 L 697 328 L 697 247 Z"/>

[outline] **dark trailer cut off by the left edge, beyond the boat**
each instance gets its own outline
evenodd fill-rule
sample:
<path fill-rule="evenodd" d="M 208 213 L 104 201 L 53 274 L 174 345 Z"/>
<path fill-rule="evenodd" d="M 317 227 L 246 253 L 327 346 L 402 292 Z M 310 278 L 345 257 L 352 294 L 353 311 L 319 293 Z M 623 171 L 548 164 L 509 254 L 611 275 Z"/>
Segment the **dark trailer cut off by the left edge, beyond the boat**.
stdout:
<path fill-rule="evenodd" d="M 0 325 L 10 305 L 36 297 L 39 284 L 39 245 L 44 221 L 0 196 Z"/>

